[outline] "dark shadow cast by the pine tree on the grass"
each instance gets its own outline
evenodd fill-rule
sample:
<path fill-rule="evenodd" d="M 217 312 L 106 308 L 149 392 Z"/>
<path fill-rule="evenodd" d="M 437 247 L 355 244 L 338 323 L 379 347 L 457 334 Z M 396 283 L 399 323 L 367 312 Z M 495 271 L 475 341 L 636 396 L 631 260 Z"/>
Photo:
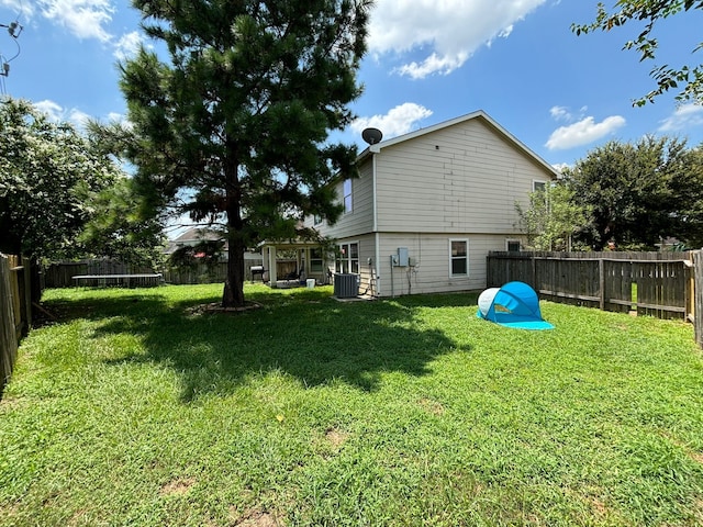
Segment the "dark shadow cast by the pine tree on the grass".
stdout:
<path fill-rule="evenodd" d="M 319 290 L 270 291 L 248 299 L 261 307 L 202 314 L 192 307 L 203 299 L 174 304 L 156 294 L 92 298 L 86 311 L 105 317 L 99 334 L 129 333 L 144 343 L 143 350 L 125 350 L 111 362 L 168 365 L 182 375 L 185 401 L 231 391 L 250 375 L 269 371 L 289 374 L 306 386 L 342 381 L 373 391 L 384 372 L 427 374 L 433 359 L 457 347 L 440 329 L 423 327 L 417 299 L 338 302 Z M 448 295 L 445 301 L 476 305 L 471 298 Z"/>

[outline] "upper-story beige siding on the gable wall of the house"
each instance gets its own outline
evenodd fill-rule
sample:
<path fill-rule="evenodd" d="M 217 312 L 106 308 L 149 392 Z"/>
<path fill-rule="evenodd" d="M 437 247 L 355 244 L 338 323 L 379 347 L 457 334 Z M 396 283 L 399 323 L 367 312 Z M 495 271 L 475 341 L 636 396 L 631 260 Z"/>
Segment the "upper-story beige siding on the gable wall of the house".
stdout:
<path fill-rule="evenodd" d="M 377 156 L 378 228 L 512 233 L 545 169 L 480 120 L 398 143 Z"/>

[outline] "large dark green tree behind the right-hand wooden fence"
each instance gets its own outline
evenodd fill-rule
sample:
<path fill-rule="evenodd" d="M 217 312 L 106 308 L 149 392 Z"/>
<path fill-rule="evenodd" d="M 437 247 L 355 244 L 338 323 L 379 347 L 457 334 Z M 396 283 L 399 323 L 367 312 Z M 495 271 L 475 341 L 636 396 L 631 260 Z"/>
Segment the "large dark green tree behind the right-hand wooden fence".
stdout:
<path fill-rule="evenodd" d="M 699 228 L 701 170 L 685 142 L 644 137 L 610 142 L 591 150 L 568 172 L 576 199 L 591 208 L 581 233 L 594 248 L 613 239 L 621 247 L 652 248 L 663 237 L 685 240 Z"/>

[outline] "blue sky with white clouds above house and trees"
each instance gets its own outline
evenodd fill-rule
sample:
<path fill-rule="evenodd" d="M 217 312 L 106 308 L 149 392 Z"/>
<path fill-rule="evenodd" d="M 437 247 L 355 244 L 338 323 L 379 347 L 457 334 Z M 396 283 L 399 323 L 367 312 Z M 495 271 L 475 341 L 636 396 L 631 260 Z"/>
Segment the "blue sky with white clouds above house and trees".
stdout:
<path fill-rule="evenodd" d="M 369 54 L 359 71 L 357 121 L 342 138 L 365 146 L 376 126 L 390 138 L 483 110 L 555 166 L 572 165 L 610 139 L 646 134 L 703 142 L 703 106 L 672 94 L 632 101 L 654 88 L 649 70 L 703 60 L 703 11 L 657 26 L 656 61 L 622 51 L 640 23 L 576 36 L 596 0 L 377 0 Z M 611 8 L 615 0 L 606 1 Z M 116 61 L 144 41 L 140 13 L 122 0 L 0 0 L 0 94 L 33 101 L 54 119 L 124 119 Z M 698 38 L 698 40 L 696 40 Z"/>

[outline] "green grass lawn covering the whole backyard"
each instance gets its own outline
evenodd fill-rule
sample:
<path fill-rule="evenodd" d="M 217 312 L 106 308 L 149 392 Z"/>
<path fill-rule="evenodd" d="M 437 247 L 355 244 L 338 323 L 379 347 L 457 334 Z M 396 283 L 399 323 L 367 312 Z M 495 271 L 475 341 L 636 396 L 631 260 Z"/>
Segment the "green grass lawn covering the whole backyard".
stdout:
<path fill-rule="evenodd" d="M 689 325 L 475 294 L 53 290 L 0 402 L 1 526 L 703 524 Z"/>

